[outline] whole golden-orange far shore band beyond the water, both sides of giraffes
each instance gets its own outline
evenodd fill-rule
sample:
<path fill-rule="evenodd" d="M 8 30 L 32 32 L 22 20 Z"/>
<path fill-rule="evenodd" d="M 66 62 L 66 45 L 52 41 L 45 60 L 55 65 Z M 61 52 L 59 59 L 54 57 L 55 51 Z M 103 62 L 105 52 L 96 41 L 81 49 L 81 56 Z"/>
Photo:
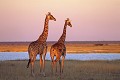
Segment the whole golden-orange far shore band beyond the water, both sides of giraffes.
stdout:
<path fill-rule="evenodd" d="M 48 42 L 48 52 L 55 42 Z M 0 42 L 0 52 L 27 52 L 30 42 Z M 120 53 L 120 42 L 66 42 L 67 53 Z"/>

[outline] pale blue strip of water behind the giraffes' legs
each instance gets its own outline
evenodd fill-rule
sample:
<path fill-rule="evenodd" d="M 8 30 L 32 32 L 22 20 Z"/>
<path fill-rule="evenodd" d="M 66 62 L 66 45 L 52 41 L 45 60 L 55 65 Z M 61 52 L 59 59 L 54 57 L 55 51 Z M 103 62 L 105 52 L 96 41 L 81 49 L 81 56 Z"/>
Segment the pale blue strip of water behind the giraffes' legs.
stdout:
<path fill-rule="evenodd" d="M 27 52 L 0 52 L 0 61 L 4 60 L 28 60 Z M 39 55 L 36 58 L 39 60 Z M 89 53 L 89 54 L 67 54 L 66 60 L 118 60 L 119 53 Z M 51 60 L 50 54 L 47 53 L 46 60 Z"/>

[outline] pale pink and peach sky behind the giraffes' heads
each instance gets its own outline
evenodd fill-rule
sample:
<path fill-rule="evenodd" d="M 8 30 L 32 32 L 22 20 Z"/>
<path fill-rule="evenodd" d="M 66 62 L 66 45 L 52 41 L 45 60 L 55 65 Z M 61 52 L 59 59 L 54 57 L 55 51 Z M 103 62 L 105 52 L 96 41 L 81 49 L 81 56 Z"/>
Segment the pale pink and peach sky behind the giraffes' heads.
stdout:
<path fill-rule="evenodd" d="M 66 41 L 120 40 L 120 0 L 0 0 L 0 42 L 36 40 L 47 12 L 57 20 L 48 41 L 59 39 L 68 17 Z"/>

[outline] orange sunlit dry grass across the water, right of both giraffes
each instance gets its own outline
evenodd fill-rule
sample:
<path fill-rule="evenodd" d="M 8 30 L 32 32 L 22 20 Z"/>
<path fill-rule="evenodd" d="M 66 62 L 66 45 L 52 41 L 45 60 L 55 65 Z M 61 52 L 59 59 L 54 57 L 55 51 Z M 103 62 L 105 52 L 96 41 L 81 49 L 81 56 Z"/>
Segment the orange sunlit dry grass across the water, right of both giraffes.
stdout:
<path fill-rule="evenodd" d="M 96 46 L 95 44 L 67 45 L 69 53 L 120 53 L 119 44 Z"/>

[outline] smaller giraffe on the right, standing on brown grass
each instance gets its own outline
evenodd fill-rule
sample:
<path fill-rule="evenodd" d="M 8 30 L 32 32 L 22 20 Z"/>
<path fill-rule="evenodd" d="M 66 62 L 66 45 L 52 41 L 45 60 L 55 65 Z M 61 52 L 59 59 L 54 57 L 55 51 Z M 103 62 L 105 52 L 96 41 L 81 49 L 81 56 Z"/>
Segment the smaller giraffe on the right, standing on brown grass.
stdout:
<path fill-rule="evenodd" d="M 66 56 L 65 38 L 66 38 L 67 26 L 72 27 L 72 24 L 71 24 L 69 18 L 67 18 L 67 20 L 65 20 L 63 33 L 62 33 L 60 39 L 57 41 L 57 43 L 53 44 L 50 49 L 50 57 L 52 60 L 52 62 L 51 62 L 52 73 L 53 73 L 53 67 L 55 65 L 56 65 L 56 72 L 57 72 L 57 61 L 59 61 L 60 75 L 61 75 L 61 72 L 63 73 L 64 60 L 65 60 L 65 56 Z M 54 60 L 55 56 L 56 56 L 56 59 Z M 61 64 L 61 60 L 60 60 L 61 57 L 62 57 L 62 64 Z M 61 71 L 61 69 L 62 69 L 62 71 Z"/>

